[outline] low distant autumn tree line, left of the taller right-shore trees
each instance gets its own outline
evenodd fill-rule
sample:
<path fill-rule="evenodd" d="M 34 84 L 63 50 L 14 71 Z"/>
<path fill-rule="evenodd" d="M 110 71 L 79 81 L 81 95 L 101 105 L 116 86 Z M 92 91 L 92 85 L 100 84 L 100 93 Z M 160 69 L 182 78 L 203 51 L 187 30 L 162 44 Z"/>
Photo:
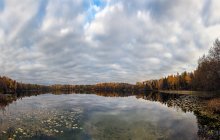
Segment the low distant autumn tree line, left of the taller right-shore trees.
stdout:
<path fill-rule="evenodd" d="M 21 92 L 143 92 L 145 86 L 133 85 L 128 83 L 99 83 L 95 85 L 37 85 L 37 84 L 26 84 L 21 82 L 16 82 L 8 77 L 0 77 L 0 93 L 21 93 Z"/>

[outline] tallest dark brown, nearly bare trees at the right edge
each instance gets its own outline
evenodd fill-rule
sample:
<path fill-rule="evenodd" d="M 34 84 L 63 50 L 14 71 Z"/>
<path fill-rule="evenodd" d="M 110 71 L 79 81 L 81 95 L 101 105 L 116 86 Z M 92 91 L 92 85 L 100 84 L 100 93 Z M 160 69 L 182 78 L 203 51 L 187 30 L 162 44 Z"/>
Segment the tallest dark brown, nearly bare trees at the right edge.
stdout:
<path fill-rule="evenodd" d="M 220 89 L 220 41 L 217 39 L 207 55 L 198 61 L 193 85 L 201 90 Z"/>

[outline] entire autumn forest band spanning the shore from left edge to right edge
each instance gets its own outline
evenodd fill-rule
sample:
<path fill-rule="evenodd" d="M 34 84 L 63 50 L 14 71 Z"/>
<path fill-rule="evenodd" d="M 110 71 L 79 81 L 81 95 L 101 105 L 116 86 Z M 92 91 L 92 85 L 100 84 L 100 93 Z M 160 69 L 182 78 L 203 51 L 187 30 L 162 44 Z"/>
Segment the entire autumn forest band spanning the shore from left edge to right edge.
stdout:
<path fill-rule="evenodd" d="M 198 60 L 193 72 L 168 75 L 161 79 L 128 83 L 99 83 L 95 85 L 38 85 L 17 82 L 6 76 L 0 77 L 0 93 L 13 94 L 25 91 L 68 92 L 143 92 L 146 90 L 220 90 L 220 41 L 215 40 L 207 55 Z"/>

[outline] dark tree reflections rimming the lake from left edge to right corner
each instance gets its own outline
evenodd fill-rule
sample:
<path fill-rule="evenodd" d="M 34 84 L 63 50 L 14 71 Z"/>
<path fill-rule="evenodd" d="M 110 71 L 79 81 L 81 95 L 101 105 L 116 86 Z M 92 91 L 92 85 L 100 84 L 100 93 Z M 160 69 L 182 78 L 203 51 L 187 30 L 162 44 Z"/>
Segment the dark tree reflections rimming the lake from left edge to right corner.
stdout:
<path fill-rule="evenodd" d="M 45 92 L 46 93 L 46 92 Z M 23 97 L 45 94 L 42 92 L 17 93 L 15 95 L 1 95 L 0 109 Z M 53 94 L 71 94 L 71 92 L 54 92 Z M 80 93 L 78 93 L 80 94 Z M 85 93 L 83 93 L 85 94 Z M 198 136 L 202 139 L 220 139 L 220 98 L 216 96 L 198 96 L 185 94 L 169 94 L 160 92 L 129 93 L 129 92 L 96 92 L 89 93 L 105 97 L 136 96 L 149 101 L 160 102 L 167 107 L 181 109 L 183 112 L 193 112 L 197 117 Z"/>

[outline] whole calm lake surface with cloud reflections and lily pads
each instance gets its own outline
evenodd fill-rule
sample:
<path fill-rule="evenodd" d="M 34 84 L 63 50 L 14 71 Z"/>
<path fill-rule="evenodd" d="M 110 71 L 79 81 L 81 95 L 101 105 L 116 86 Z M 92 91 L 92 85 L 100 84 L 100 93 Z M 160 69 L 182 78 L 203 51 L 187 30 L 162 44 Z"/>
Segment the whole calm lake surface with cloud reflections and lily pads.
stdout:
<path fill-rule="evenodd" d="M 0 139 L 219 139 L 219 99 L 167 93 L 17 95 L 1 105 Z"/>

